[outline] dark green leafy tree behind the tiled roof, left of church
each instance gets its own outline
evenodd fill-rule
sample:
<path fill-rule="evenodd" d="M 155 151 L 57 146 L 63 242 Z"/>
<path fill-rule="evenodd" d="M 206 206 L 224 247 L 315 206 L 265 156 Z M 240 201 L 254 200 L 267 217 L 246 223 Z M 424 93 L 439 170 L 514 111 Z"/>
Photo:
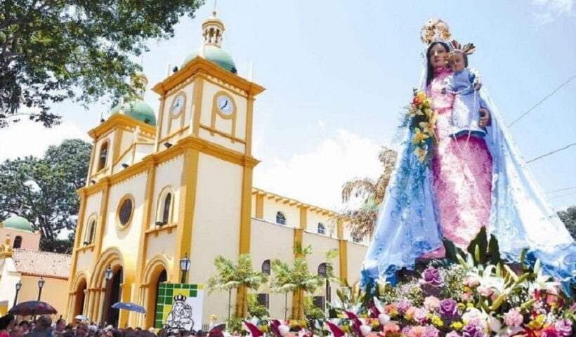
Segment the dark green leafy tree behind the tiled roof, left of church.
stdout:
<path fill-rule="evenodd" d="M 44 157 L 0 164 L 0 219 L 17 215 L 41 233 L 43 251 L 71 253 L 92 145 L 79 139 L 48 147 Z M 67 231 L 67 239 L 59 239 Z"/>

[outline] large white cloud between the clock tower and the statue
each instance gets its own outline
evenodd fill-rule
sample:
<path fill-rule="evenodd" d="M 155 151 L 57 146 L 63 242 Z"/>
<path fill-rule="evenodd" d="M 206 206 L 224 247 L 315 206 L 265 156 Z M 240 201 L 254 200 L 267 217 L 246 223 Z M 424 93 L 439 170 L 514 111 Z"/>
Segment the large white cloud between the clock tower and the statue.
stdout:
<path fill-rule="evenodd" d="M 287 161 L 262 158 L 254 170 L 254 186 L 307 204 L 339 211 L 341 187 L 353 178 L 377 178 L 381 145 L 339 130 L 309 152 Z"/>

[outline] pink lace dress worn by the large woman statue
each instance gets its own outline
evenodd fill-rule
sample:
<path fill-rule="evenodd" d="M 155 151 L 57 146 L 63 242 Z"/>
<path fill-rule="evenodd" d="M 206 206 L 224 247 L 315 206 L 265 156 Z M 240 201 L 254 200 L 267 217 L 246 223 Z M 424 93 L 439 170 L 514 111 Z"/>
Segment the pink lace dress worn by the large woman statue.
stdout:
<path fill-rule="evenodd" d="M 466 249 L 490 217 L 492 157 L 483 138 L 450 137 L 454 95 L 442 93 L 444 78 L 450 73 L 447 68 L 435 70 L 426 90 L 438 112 L 438 147 L 432 159 L 433 190 L 444 237 Z M 434 253 L 444 255 L 443 249 Z"/>

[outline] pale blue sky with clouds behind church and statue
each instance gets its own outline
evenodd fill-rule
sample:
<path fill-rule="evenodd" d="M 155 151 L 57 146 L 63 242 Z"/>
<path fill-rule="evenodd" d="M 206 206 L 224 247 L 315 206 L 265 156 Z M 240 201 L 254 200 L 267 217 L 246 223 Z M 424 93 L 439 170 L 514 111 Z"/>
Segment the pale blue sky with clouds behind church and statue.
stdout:
<path fill-rule="evenodd" d="M 169 41 L 150 41 L 143 58 L 150 87 L 200 44 L 214 6 L 183 18 Z M 507 123 L 576 74 L 576 5 L 536 1 L 218 1 L 223 48 L 246 77 L 267 88 L 255 105 L 256 187 L 339 209 L 341 184 L 377 176 L 376 152 L 390 143 L 398 113 L 421 71 L 421 25 L 435 16 L 453 37 L 473 42 L 471 67 Z M 576 79 L 511 128 L 525 159 L 576 142 Z M 146 100 L 157 108 L 157 95 Z M 105 105 L 55 105 L 63 126 L 0 130 L 0 160 L 40 154 L 83 136 Z M 87 138 L 86 138 L 87 139 Z M 6 141 L 10 140 L 10 146 Z M 576 187 L 576 146 L 529 164 L 542 190 Z M 576 188 L 547 193 L 556 208 L 576 204 Z"/>

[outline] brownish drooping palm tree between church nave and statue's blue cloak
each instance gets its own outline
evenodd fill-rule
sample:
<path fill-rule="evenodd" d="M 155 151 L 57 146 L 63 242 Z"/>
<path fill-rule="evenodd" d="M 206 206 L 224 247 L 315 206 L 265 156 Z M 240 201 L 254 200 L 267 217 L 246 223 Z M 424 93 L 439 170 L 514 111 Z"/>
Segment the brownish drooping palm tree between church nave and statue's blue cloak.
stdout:
<path fill-rule="evenodd" d="M 358 237 L 372 236 L 374 222 L 394 169 L 396 152 L 388 147 L 382 147 L 378 159 L 382 163 L 383 171 L 377 180 L 356 179 L 346 182 L 342 187 L 343 203 L 347 203 L 353 197 L 362 199 L 362 205 L 358 209 L 348 210 L 338 216 L 348 223 L 352 233 Z"/>

